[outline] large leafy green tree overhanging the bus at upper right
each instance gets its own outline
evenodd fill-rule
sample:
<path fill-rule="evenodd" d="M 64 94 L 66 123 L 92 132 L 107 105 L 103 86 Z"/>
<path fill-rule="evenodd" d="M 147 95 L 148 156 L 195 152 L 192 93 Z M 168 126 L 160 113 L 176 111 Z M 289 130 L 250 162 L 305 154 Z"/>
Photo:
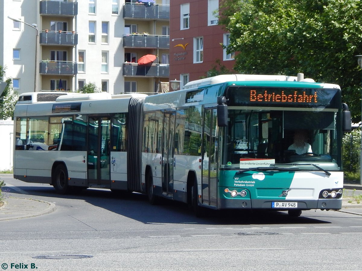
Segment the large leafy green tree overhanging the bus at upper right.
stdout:
<path fill-rule="evenodd" d="M 361 121 L 362 2 L 359 0 L 223 0 L 235 70 L 305 74 L 342 88 L 354 122 Z"/>

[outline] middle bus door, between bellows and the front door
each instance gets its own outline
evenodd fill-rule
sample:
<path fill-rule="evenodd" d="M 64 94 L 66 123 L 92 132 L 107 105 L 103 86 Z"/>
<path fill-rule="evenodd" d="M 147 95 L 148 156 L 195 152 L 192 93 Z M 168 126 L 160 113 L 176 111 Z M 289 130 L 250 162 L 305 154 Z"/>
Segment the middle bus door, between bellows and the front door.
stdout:
<path fill-rule="evenodd" d="M 163 126 L 163 151 L 162 151 L 162 192 L 172 195 L 173 192 L 173 142 L 175 130 L 175 113 L 165 113 Z"/>

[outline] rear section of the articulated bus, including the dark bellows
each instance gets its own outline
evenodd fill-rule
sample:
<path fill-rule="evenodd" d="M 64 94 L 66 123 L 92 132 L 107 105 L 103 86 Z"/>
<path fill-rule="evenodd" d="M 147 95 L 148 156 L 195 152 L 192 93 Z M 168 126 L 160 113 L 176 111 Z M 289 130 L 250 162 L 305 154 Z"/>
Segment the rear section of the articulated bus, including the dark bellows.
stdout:
<path fill-rule="evenodd" d="M 133 155 L 140 144 L 127 134 L 140 133 L 134 129 L 146 96 L 21 94 L 14 111 L 14 178 L 51 184 L 61 194 L 88 187 L 140 192 L 139 171 L 132 169 L 140 163 Z"/>

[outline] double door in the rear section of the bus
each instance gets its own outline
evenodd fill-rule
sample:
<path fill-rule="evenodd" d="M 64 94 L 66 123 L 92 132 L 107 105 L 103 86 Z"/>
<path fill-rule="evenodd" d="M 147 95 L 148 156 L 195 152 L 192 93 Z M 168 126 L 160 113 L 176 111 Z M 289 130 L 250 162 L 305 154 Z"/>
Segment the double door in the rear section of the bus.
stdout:
<path fill-rule="evenodd" d="M 110 117 L 89 117 L 88 186 L 110 188 Z"/>

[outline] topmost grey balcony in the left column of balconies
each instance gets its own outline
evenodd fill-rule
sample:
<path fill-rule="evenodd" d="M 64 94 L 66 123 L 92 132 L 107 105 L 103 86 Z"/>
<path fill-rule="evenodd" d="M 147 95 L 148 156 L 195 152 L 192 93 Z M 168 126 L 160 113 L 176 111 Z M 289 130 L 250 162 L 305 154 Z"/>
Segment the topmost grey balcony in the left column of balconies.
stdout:
<path fill-rule="evenodd" d="M 41 0 L 39 4 L 41 15 L 76 16 L 78 14 L 78 2 Z"/>

